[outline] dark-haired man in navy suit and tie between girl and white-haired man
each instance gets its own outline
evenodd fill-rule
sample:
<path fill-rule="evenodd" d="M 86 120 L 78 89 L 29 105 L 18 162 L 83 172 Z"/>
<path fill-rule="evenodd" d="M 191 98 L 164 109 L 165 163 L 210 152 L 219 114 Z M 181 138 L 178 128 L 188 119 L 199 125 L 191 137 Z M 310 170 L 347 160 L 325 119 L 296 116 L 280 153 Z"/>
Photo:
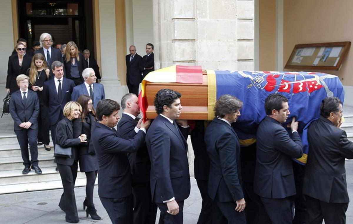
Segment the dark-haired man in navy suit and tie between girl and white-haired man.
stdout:
<path fill-rule="evenodd" d="M 75 84 L 72 80 L 63 77 L 64 64 L 60 61 L 52 62 L 52 72 L 54 78 L 44 83 L 42 95 L 43 102 L 48 107 L 50 133 L 55 147 L 56 126 L 64 118 L 62 111 L 65 104 L 71 101 L 71 93 Z"/>

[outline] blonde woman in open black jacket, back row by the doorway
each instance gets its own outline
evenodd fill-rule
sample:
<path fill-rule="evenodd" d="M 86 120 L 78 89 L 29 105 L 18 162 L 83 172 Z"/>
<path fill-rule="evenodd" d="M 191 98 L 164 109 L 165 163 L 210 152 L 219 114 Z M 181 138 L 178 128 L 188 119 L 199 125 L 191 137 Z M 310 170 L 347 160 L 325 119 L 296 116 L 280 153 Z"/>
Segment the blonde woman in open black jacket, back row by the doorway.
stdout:
<path fill-rule="evenodd" d="M 75 85 L 80 85 L 84 82 L 82 77 L 83 61 L 84 56 L 78 51 L 76 43 L 73 41 L 67 42 L 65 53 L 66 78 L 71 79 Z"/>

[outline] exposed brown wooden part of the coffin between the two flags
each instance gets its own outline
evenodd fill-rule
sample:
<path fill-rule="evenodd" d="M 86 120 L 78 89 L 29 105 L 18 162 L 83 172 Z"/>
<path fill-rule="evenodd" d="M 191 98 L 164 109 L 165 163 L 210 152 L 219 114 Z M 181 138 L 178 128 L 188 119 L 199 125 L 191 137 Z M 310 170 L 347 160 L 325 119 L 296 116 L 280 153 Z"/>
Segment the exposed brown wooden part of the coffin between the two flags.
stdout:
<path fill-rule="evenodd" d="M 208 119 L 208 84 L 207 74 L 203 71 L 202 84 L 189 83 L 151 83 L 146 82 L 146 97 L 148 108 L 146 116 L 155 119 L 157 116 L 154 107 L 154 98 L 161 89 L 172 89 L 181 93 L 181 115 L 179 119 L 207 120 Z"/>

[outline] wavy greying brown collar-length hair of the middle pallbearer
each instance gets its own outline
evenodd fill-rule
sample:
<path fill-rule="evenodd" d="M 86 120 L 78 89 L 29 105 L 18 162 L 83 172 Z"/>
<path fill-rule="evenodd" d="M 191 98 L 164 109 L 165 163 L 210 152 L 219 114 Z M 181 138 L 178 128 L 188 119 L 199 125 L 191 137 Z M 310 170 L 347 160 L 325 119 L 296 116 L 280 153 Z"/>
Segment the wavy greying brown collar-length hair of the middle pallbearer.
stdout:
<path fill-rule="evenodd" d="M 215 116 L 223 118 L 227 114 L 237 113 L 243 107 L 243 102 L 237 97 L 229 94 L 220 96 L 217 100 L 215 108 Z"/>

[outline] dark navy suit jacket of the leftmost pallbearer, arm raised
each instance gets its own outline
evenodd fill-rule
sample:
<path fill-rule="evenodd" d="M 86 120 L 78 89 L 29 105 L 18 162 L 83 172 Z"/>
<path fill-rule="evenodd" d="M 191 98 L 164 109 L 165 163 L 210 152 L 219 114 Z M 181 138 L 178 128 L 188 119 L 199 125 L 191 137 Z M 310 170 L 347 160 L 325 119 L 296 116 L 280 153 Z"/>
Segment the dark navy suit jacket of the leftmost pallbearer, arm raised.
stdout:
<path fill-rule="evenodd" d="M 131 194 L 131 169 L 127 152 L 136 152 L 144 143 L 145 133 L 139 131 L 133 139 L 123 139 L 115 129 L 97 122 L 93 145 L 99 164 L 98 195 L 104 198 L 124 198 Z"/>

